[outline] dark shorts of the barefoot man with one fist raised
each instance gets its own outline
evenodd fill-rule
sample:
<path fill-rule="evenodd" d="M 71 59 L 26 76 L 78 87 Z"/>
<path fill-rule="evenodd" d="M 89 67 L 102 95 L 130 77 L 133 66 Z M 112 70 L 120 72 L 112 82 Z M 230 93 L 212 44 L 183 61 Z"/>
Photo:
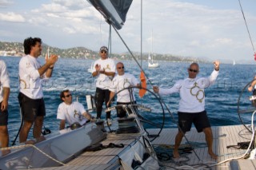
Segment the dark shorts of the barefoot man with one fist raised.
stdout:
<path fill-rule="evenodd" d="M 207 117 L 206 110 L 200 113 L 182 113 L 178 112 L 178 125 L 182 132 L 190 131 L 192 123 L 198 132 L 202 132 L 203 128 L 210 127 L 210 121 Z"/>

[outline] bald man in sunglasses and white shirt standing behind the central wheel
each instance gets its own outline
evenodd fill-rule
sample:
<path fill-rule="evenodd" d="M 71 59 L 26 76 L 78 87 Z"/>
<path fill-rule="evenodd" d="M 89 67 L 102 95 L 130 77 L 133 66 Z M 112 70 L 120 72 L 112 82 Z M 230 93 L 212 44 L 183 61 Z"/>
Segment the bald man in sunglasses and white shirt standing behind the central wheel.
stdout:
<path fill-rule="evenodd" d="M 125 73 L 125 66 L 122 62 L 118 62 L 117 64 L 118 75 L 116 75 L 110 85 L 110 99 L 114 97 L 114 93 L 118 93 L 120 90 L 128 88 L 128 87 L 140 87 L 138 80 L 134 77 L 134 75 L 130 73 Z M 132 103 L 136 103 L 136 99 L 134 96 L 133 89 L 125 89 L 122 92 L 117 94 L 117 105 L 129 105 Z M 108 105 L 110 101 L 108 102 Z M 118 117 L 126 117 L 126 111 L 122 108 L 117 108 Z"/>

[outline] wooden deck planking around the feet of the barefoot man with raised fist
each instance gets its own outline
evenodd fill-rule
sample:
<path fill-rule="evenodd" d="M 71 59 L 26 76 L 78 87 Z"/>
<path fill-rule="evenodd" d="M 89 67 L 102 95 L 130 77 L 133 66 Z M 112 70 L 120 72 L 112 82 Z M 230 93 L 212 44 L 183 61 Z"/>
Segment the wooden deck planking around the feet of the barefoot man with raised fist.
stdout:
<path fill-rule="evenodd" d="M 250 138 L 252 136 L 252 133 L 248 132 L 246 128 L 243 125 L 231 125 L 231 126 L 216 126 L 212 127 L 213 130 L 213 136 L 214 136 L 214 152 L 218 155 L 218 160 L 212 159 L 207 151 L 206 146 L 206 140 L 205 135 L 203 132 L 198 133 L 195 128 L 193 128 L 190 132 L 186 133 L 186 138 L 192 143 L 192 144 L 198 144 L 198 147 L 194 145 L 194 152 L 198 155 L 195 156 L 195 153 L 192 152 L 190 154 L 186 154 L 186 156 L 189 158 L 189 160 L 185 164 L 217 164 L 219 162 L 222 162 L 223 160 L 236 158 L 239 156 L 242 156 L 246 149 L 237 149 L 237 148 L 226 148 L 226 146 L 230 145 L 237 145 L 238 142 L 245 142 L 250 141 Z M 174 146 L 174 138 L 177 133 L 177 129 L 174 128 L 168 128 L 163 129 L 162 133 L 160 134 L 160 137 L 158 137 L 156 140 L 153 141 L 154 145 L 163 145 L 163 147 L 173 147 Z M 150 129 L 150 132 L 154 132 L 154 129 Z M 166 146 L 164 146 L 166 144 Z M 186 144 L 186 139 L 183 137 L 182 144 Z M 182 147 L 181 144 L 181 147 Z M 199 145 L 201 144 L 201 145 Z M 172 154 L 172 153 L 170 153 Z M 198 159 L 199 158 L 199 159 Z M 179 162 L 181 160 L 186 160 L 184 157 L 175 159 L 175 161 Z M 202 160 L 202 161 L 201 161 Z M 247 161 L 248 164 L 246 164 L 246 167 L 244 169 L 256 169 L 255 164 L 256 161 L 253 160 L 244 160 L 240 159 L 238 160 L 238 164 L 240 164 L 241 161 Z M 242 164 L 242 162 L 241 162 Z M 244 162 L 243 162 L 244 164 Z M 230 169 L 230 161 L 227 161 L 223 164 L 218 164 L 217 166 L 214 166 L 215 169 L 222 169 L 222 170 L 228 170 Z M 242 169 L 242 168 L 240 168 Z"/>

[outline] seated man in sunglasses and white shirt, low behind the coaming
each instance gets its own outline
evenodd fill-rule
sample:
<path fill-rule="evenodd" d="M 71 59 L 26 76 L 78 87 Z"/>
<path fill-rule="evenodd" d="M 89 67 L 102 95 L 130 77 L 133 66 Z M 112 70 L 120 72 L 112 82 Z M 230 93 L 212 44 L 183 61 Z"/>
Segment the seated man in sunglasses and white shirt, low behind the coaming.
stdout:
<path fill-rule="evenodd" d="M 72 94 L 70 90 L 66 89 L 61 92 L 60 98 L 63 101 L 58 105 L 57 119 L 60 119 L 59 130 L 65 128 L 66 122 L 69 125 L 74 123 L 79 123 L 80 125 L 85 125 L 86 121 L 94 119 L 90 113 L 86 112 L 83 105 L 77 101 L 72 102 Z"/>

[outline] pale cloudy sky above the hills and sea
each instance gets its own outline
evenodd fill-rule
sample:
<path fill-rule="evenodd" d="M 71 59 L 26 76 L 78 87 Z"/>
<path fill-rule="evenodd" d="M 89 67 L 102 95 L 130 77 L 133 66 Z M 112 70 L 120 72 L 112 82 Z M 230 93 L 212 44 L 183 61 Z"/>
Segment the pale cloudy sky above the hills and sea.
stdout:
<path fill-rule="evenodd" d="M 256 1 L 240 2 L 252 43 L 238 0 L 134 0 L 118 33 L 133 52 L 253 62 Z M 127 52 L 111 32 L 112 53 Z M 109 35 L 110 26 L 86 0 L 0 0 L 1 42 L 39 37 L 60 49 L 98 51 Z"/>

